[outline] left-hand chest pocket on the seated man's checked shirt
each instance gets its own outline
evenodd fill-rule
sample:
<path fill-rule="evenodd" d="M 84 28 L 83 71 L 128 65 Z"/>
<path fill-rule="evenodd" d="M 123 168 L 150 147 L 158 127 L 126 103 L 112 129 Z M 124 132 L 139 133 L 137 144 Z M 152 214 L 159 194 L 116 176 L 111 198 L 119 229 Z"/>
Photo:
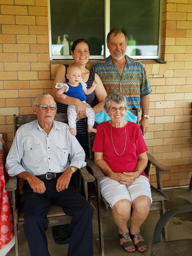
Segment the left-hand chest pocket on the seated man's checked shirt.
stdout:
<path fill-rule="evenodd" d="M 41 146 L 39 143 L 31 143 L 23 146 L 24 158 L 28 163 L 39 163 L 41 161 Z"/>

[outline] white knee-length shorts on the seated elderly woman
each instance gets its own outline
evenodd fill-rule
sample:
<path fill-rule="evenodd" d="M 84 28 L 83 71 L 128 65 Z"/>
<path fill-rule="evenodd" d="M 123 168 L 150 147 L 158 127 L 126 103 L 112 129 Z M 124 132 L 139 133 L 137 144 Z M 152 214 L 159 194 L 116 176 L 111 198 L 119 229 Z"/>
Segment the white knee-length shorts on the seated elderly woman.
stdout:
<path fill-rule="evenodd" d="M 150 183 L 148 178 L 143 175 L 136 178 L 129 186 L 105 177 L 100 181 L 100 186 L 101 195 L 110 204 L 111 208 L 121 199 L 128 199 L 133 202 L 138 196 L 148 196 L 152 203 Z"/>

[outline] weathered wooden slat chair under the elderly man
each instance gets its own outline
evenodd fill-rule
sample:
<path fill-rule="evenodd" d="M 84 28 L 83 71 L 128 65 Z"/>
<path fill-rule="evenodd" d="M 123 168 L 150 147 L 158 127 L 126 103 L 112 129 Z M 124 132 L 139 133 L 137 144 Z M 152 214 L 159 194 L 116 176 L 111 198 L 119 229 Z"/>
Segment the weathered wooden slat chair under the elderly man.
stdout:
<path fill-rule="evenodd" d="M 36 115 L 14 115 L 14 131 L 16 133 L 17 129 L 25 124 L 29 123 L 31 121 L 34 121 L 37 119 Z M 67 120 L 67 114 L 56 114 L 55 120 L 68 123 Z M 88 190 L 87 190 L 87 183 L 93 182 L 95 178 L 88 173 L 86 167 L 83 167 L 79 169 L 80 178 L 79 178 L 79 186 L 78 190 L 80 191 L 81 186 L 81 177 L 83 178 L 83 186 L 84 186 L 84 194 L 86 200 L 88 200 Z M 78 175 L 78 172 L 75 173 L 75 175 Z M 76 179 L 77 181 L 77 179 Z M 76 183 L 76 185 L 78 185 Z M 13 195 L 13 217 L 14 217 L 14 230 L 15 230 L 15 252 L 16 256 L 19 255 L 18 250 L 18 236 L 17 233 L 20 230 L 23 230 L 23 223 L 24 223 L 24 212 L 23 208 L 20 205 L 20 195 L 19 195 L 19 181 L 18 177 L 9 177 L 9 180 L 5 186 L 5 190 L 12 191 Z M 51 205 L 47 214 L 47 219 L 49 220 L 49 226 L 56 226 L 56 225 L 63 225 L 68 224 L 71 222 L 71 218 L 69 216 L 65 215 L 65 212 L 63 212 L 63 209 L 59 206 Z"/>

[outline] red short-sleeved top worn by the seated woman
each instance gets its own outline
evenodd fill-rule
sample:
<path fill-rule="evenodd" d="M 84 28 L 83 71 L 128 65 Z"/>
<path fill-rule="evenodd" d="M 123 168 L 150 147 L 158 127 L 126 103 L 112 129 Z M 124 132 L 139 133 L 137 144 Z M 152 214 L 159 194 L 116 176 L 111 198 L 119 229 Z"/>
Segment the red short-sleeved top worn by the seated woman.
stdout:
<path fill-rule="evenodd" d="M 125 129 L 127 136 L 126 147 Z M 125 147 L 125 151 L 121 156 L 115 153 L 111 140 L 111 124 L 108 121 L 97 126 L 92 151 L 103 153 L 103 159 L 113 172 L 134 172 L 137 166 L 138 155 L 148 150 L 140 127 L 133 122 L 128 122 L 125 127 L 121 128 L 112 126 L 112 138 L 118 154 L 121 154 Z M 146 176 L 144 172 L 141 175 Z"/>

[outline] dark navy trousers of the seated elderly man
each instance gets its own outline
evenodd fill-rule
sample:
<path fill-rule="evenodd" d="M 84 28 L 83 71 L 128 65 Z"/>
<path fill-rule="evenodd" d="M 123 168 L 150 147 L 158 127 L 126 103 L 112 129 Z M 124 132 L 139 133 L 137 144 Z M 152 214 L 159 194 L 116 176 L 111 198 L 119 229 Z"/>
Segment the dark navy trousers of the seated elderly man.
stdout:
<path fill-rule="evenodd" d="M 27 181 L 24 182 L 21 202 L 24 204 L 23 229 L 31 256 L 50 256 L 47 246 L 49 221 L 47 212 L 50 204 L 61 206 L 67 216 L 72 216 L 72 234 L 67 256 L 93 256 L 93 207 L 70 182 L 68 189 L 57 192 L 55 179 L 43 179 L 44 194 L 34 193 Z M 62 255 L 61 255 L 62 256 Z"/>

